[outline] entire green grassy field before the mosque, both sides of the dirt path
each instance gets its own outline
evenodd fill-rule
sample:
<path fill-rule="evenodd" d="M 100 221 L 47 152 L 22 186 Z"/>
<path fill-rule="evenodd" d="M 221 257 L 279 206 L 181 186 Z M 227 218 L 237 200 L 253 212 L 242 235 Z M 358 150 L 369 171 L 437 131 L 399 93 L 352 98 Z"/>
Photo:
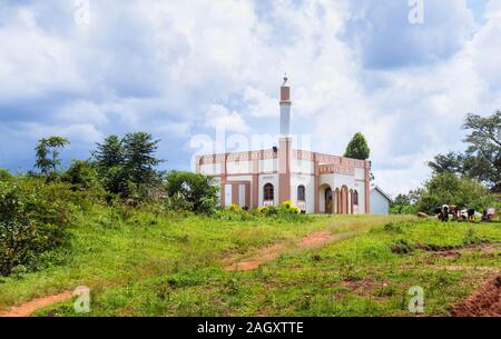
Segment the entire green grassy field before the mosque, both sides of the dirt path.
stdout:
<path fill-rule="evenodd" d="M 441 316 L 501 267 L 499 225 L 396 216 L 224 221 L 149 212 L 124 220 L 106 208 L 77 221 L 71 259 L 4 279 L 0 307 L 85 285 L 90 316 L 409 316 L 407 290 L 420 286 L 425 315 Z M 326 229 L 355 235 L 311 250 L 293 245 Z M 278 259 L 253 271 L 224 270 L 228 257 L 276 242 L 289 243 Z M 407 251 L 392 251 L 395 243 Z M 459 255 L 432 250 L 440 247 Z M 49 311 L 76 316 L 72 301 L 36 315 Z"/>

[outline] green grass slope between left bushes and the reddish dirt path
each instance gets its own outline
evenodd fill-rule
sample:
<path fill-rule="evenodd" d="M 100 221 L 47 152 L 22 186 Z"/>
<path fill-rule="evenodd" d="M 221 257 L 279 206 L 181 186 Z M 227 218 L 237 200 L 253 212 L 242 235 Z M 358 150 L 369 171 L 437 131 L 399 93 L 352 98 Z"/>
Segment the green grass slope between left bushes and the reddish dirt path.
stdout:
<path fill-rule="evenodd" d="M 92 206 L 77 211 L 70 246 L 48 255 L 52 266 L 0 278 L 0 309 L 85 285 L 107 289 L 147 277 L 217 266 L 229 253 L 286 241 L 332 220 L 218 220 Z"/>

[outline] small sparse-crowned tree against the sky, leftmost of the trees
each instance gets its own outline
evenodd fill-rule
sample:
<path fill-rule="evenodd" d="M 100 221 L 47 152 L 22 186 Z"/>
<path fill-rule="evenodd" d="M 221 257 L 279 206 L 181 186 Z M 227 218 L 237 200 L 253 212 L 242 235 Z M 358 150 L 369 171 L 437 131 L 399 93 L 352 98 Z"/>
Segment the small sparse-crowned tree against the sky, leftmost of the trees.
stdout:
<path fill-rule="evenodd" d="M 58 168 L 61 166 L 59 151 L 67 144 L 69 144 L 68 139 L 58 136 L 40 139 L 35 148 L 37 152 L 35 167 L 45 176 L 57 172 Z"/>

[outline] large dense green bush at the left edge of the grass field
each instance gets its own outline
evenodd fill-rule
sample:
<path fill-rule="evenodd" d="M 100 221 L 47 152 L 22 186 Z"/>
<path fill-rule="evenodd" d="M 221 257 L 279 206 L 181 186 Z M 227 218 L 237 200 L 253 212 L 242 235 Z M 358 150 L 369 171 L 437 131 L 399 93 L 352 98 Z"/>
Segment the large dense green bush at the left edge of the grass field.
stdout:
<path fill-rule="evenodd" d="M 0 181 L 0 275 L 30 269 L 66 239 L 69 213 L 39 180 Z"/>

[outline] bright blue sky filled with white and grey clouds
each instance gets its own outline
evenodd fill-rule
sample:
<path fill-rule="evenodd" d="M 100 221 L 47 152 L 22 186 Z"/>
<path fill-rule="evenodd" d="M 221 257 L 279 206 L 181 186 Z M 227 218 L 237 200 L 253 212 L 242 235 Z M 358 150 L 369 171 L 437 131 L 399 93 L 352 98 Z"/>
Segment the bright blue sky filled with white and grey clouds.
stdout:
<path fill-rule="evenodd" d="M 361 131 L 375 183 L 406 192 L 466 113 L 501 109 L 500 54 L 501 0 L 0 0 L 0 168 L 140 130 L 188 170 L 216 127 L 276 134 L 286 72 L 292 132 L 342 154 Z"/>

